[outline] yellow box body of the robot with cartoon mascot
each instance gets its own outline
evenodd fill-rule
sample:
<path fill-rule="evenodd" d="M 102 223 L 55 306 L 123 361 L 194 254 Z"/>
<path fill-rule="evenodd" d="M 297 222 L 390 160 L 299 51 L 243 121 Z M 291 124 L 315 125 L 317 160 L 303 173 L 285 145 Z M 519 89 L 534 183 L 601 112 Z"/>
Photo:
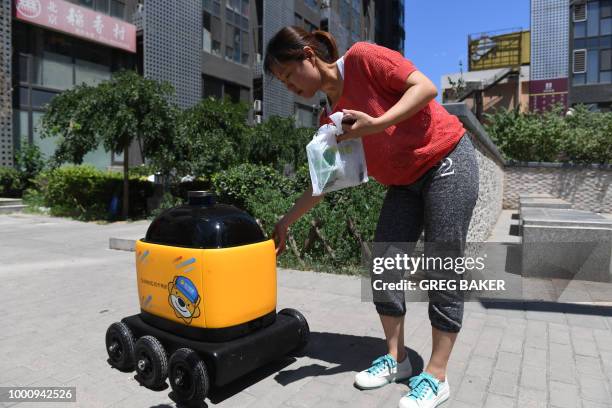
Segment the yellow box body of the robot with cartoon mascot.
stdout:
<path fill-rule="evenodd" d="M 274 241 L 192 249 L 138 240 L 140 307 L 201 328 L 242 324 L 276 308 Z"/>

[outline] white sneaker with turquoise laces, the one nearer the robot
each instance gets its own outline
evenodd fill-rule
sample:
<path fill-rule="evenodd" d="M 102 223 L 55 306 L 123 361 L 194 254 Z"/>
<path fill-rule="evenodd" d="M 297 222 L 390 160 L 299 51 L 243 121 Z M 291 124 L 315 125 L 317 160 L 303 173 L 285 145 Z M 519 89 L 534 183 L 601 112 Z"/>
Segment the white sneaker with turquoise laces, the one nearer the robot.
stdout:
<path fill-rule="evenodd" d="M 362 390 L 369 390 L 404 380 L 411 375 L 412 366 L 408 355 L 398 364 L 391 354 L 385 354 L 372 361 L 372 367 L 355 375 L 355 385 Z"/>

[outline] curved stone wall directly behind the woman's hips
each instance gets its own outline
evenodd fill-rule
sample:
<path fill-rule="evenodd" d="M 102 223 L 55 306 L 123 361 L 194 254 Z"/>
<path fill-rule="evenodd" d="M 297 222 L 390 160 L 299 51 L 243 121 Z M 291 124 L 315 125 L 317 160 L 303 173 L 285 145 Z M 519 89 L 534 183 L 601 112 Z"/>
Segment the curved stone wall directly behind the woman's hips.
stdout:
<path fill-rule="evenodd" d="M 464 103 L 443 105 L 470 133 L 479 166 L 478 201 L 472 214 L 467 241 L 486 241 L 499 218 L 504 198 L 504 159 L 478 119 Z"/>

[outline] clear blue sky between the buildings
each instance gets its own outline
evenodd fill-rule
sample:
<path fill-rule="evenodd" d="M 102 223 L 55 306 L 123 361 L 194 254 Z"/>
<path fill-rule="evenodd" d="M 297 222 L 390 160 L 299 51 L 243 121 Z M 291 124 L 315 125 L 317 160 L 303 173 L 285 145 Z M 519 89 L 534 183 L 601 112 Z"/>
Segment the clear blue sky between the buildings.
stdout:
<path fill-rule="evenodd" d="M 467 71 L 469 34 L 529 29 L 530 0 L 404 0 L 404 55 L 438 87 L 442 75 Z M 440 98 L 440 96 L 438 96 Z"/>

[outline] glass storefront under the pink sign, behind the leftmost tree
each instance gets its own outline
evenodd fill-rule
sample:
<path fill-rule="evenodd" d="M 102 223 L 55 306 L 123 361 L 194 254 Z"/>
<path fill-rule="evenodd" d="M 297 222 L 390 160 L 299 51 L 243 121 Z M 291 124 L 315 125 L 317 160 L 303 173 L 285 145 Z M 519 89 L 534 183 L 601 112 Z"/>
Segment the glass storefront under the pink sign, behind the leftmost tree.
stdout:
<path fill-rule="evenodd" d="M 85 0 L 83 7 L 61 0 L 15 0 L 13 49 L 13 144 L 38 145 L 49 157 L 55 140 L 40 137 L 45 104 L 55 95 L 85 83 L 96 85 L 136 63 L 136 28 L 127 23 L 125 3 Z M 109 16 L 108 13 L 116 17 Z M 102 148 L 86 163 L 100 168 L 121 163 Z"/>

